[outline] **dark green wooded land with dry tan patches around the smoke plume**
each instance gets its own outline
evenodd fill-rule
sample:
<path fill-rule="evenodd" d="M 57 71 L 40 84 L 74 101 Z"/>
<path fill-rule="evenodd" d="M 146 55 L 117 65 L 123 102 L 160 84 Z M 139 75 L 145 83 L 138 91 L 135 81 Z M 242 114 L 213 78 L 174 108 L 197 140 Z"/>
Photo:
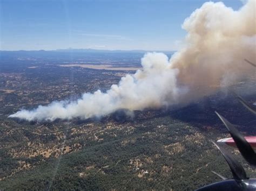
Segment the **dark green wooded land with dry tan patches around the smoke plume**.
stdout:
<path fill-rule="evenodd" d="M 125 56 L 117 56 L 116 64 L 128 60 Z M 138 66 L 139 56 L 132 66 Z M 245 135 L 256 134 L 255 116 L 226 91 L 182 108 L 135 111 L 132 117 L 117 111 L 72 121 L 8 118 L 21 108 L 104 91 L 125 75 L 56 66 L 64 61 L 3 58 L 0 63 L 0 190 L 194 190 L 220 180 L 211 171 L 232 177 L 210 142 L 230 136 L 214 111 Z M 245 85 L 233 88 L 242 94 Z M 255 102 L 255 96 L 244 98 Z M 227 149 L 255 177 L 239 152 Z"/>

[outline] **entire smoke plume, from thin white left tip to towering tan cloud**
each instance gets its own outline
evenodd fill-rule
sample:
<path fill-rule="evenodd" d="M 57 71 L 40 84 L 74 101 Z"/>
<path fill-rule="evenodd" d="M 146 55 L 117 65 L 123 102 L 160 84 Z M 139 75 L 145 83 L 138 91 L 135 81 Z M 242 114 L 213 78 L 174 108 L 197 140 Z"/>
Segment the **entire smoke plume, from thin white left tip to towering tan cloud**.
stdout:
<path fill-rule="evenodd" d="M 77 101 L 39 105 L 9 117 L 28 121 L 100 117 L 119 109 L 185 104 L 210 95 L 254 73 L 242 60 L 256 60 L 255 12 L 255 0 L 238 11 L 223 3 L 205 3 L 185 20 L 186 47 L 170 60 L 163 53 L 147 53 L 142 70 L 122 77 L 106 93 L 98 90 Z"/>

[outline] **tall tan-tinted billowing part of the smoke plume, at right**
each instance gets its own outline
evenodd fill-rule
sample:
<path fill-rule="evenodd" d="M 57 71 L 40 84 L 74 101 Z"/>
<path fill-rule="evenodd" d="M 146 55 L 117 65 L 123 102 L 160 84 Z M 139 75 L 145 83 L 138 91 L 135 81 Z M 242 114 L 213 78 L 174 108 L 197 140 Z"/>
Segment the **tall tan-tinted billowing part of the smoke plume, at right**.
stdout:
<path fill-rule="evenodd" d="M 179 69 L 178 82 L 190 88 L 183 101 L 209 95 L 255 72 L 244 61 L 256 60 L 255 14 L 255 0 L 238 11 L 208 2 L 185 20 L 186 48 L 170 60 Z"/>

